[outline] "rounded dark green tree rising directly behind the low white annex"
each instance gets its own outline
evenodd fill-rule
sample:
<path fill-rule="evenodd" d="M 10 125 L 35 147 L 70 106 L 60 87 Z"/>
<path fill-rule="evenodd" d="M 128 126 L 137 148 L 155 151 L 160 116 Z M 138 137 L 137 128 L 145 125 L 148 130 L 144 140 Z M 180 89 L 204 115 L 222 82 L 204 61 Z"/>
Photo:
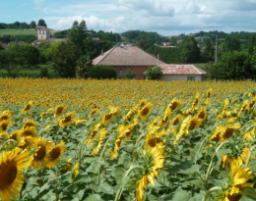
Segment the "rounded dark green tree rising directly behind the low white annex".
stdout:
<path fill-rule="evenodd" d="M 200 48 L 194 37 L 185 37 L 181 45 L 181 63 L 198 63 L 200 62 Z"/>

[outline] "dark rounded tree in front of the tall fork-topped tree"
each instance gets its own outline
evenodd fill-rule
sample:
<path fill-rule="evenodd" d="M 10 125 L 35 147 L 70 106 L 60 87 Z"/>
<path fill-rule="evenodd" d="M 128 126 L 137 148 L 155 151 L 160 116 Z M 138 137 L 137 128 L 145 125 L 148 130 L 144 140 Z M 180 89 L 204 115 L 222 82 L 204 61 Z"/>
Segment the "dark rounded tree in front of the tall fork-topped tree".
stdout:
<path fill-rule="evenodd" d="M 79 48 L 71 41 L 61 43 L 52 57 L 54 72 L 61 77 L 74 77 L 80 54 Z"/>

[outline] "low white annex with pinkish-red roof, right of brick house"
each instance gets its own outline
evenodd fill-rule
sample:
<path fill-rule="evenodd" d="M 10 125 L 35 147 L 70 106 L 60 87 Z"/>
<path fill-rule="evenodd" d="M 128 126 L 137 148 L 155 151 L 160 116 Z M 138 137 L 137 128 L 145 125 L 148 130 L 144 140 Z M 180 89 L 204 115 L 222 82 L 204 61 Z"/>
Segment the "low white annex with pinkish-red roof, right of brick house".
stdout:
<path fill-rule="evenodd" d="M 204 76 L 207 75 L 202 69 L 195 67 L 194 65 L 159 65 L 162 72 L 162 80 L 204 80 Z"/>

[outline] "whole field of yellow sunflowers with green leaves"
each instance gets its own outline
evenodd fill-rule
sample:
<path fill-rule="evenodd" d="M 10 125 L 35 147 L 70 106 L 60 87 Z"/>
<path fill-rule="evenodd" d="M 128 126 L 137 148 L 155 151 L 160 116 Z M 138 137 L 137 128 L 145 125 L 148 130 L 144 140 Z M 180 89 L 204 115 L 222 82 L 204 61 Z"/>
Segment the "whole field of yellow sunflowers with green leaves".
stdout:
<path fill-rule="evenodd" d="M 256 200 L 256 83 L 0 78 L 0 199 Z"/>

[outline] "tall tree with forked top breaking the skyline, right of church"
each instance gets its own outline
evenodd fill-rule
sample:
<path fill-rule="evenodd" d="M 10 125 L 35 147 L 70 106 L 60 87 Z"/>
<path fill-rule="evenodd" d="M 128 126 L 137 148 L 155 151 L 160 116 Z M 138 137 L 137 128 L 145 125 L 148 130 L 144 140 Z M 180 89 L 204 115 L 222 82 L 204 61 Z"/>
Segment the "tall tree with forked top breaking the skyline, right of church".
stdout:
<path fill-rule="evenodd" d="M 84 40 L 87 39 L 87 25 L 85 21 L 82 21 L 80 24 L 75 21 L 68 30 L 68 39 L 78 46 L 80 51 L 85 53 L 85 44 Z"/>

